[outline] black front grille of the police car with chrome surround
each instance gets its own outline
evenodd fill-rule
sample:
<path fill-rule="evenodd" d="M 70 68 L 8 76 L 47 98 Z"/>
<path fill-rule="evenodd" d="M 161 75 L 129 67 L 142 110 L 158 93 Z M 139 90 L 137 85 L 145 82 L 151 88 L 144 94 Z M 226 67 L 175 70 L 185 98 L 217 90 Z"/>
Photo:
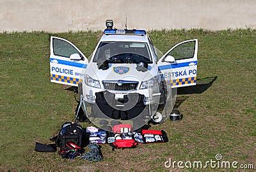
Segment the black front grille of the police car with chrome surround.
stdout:
<path fill-rule="evenodd" d="M 136 90 L 139 82 L 122 81 L 122 85 L 117 84 L 118 81 L 102 81 L 102 84 L 107 90 Z"/>

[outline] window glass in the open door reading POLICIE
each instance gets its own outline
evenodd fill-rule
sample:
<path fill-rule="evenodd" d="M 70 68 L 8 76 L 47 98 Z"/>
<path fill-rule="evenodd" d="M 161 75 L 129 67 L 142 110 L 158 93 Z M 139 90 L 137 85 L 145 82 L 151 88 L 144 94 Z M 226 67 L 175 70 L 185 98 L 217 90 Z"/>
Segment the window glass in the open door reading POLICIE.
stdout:
<path fill-rule="evenodd" d="M 71 54 L 75 54 L 75 53 L 80 54 L 75 47 L 70 45 L 70 43 L 65 42 L 64 40 L 59 40 L 54 38 L 52 42 L 53 42 L 53 53 L 56 56 L 69 58 Z"/>

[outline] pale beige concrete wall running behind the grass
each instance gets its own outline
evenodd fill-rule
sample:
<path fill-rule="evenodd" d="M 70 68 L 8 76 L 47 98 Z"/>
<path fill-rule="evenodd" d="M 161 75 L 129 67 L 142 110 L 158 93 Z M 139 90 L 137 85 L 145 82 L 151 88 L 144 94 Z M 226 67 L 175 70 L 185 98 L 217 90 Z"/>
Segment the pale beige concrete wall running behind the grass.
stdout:
<path fill-rule="evenodd" d="M 0 0 L 0 31 L 256 27 L 255 0 Z"/>

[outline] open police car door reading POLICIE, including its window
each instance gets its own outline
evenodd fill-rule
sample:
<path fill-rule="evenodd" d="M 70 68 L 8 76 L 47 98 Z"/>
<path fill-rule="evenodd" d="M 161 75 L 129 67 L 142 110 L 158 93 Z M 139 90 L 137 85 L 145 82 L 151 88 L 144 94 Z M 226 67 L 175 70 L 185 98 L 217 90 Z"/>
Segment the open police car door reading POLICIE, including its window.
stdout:
<path fill-rule="evenodd" d="M 50 71 L 51 82 L 78 86 L 82 82 L 83 68 L 88 59 L 77 47 L 63 38 L 51 36 Z"/>

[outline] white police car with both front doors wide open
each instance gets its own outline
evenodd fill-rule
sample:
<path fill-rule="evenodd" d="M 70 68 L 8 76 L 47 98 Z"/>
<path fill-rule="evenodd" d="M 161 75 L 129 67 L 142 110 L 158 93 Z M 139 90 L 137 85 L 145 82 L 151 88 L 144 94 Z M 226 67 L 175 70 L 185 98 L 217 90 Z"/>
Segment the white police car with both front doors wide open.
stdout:
<path fill-rule="evenodd" d="M 146 31 L 113 29 L 113 21 L 106 22 L 106 26 L 89 60 L 68 40 L 51 36 L 51 82 L 70 86 L 83 83 L 79 88 L 83 90 L 84 101 L 98 104 L 100 111 L 110 113 L 107 115 L 110 118 L 120 118 L 120 113 L 113 114 L 109 108 L 102 109 L 106 102 L 113 102 L 102 100 L 100 93 L 107 90 L 109 97 L 118 102 L 115 106 L 119 107 L 124 107 L 127 95 L 137 93 L 139 97 L 135 101 L 134 111 L 131 107 L 123 109 L 125 113 L 128 112 L 124 120 L 136 116 L 131 114 L 141 108 L 141 102 L 145 106 L 163 103 L 166 90 L 163 78 L 170 88 L 196 84 L 198 40 L 180 42 L 159 58 Z M 153 90 L 149 89 L 150 85 Z M 153 116 L 150 115 L 151 118 Z M 160 122 L 161 119 L 154 121 Z"/>

